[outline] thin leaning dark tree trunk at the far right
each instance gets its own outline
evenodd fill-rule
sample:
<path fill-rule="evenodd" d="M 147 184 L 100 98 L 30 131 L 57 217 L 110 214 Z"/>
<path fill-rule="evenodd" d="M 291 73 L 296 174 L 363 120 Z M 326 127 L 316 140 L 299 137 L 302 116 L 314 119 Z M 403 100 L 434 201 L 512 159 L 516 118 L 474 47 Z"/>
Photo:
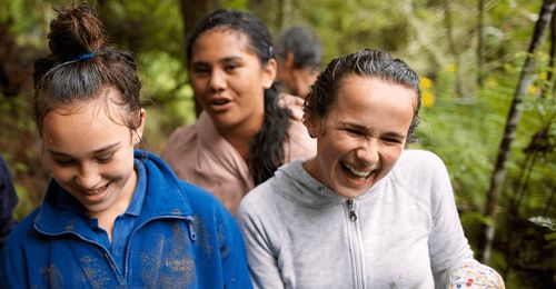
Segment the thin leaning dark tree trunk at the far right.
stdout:
<path fill-rule="evenodd" d="M 508 158 L 512 142 L 515 138 L 517 124 L 519 123 L 519 119 L 522 117 L 519 104 L 523 102 L 523 97 L 527 93 L 527 90 L 530 86 L 532 74 L 535 67 L 534 54 L 543 44 L 545 32 L 552 20 L 555 6 L 555 0 L 543 1 L 543 7 L 540 9 L 537 23 L 535 24 L 535 31 L 533 33 L 528 54 L 525 59 L 522 74 L 519 76 L 519 82 L 517 83 L 517 88 L 514 92 L 514 99 L 512 101 L 512 106 L 509 108 L 508 117 L 506 120 L 506 127 L 504 129 L 503 139 L 498 149 L 498 157 L 494 167 L 493 177 L 490 179 L 490 187 L 487 191 L 487 200 L 484 211 L 485 219 L 493 221 L 489 225 L 485 225 L 484 233 L 481 236 L 479 245 L 480 260 L 485 263 L 490 259 L 490 250 L 493 247 L 495 235 L 496 208 L 498 207 L 498 197 L 502 193 L 504 181 L 506 178 L 505 165 Z"/>

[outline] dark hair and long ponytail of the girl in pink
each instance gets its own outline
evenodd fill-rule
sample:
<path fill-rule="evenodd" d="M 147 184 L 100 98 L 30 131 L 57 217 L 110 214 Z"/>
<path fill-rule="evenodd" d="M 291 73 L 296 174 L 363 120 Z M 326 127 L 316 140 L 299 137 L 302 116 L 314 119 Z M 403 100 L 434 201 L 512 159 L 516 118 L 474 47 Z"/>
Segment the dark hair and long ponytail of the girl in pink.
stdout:
<path fill-rule="evenodd" d="M 275 58 L 272 40 L 267 27 L 255 16 L 235 11 L 217 10 L 206 17 L 187 40 L 187 61 L 190 63 L 192 46 L 199 36 L 212 29 L 237 31 L 247 38 L 247 46 L 266 66 Z M 272 86 L 265 90 L 265 119 L 260 130 L 251 138 L 249 149 L 249 170 L 255 185 L 274 176 L 284 165 L 284 143 L 288 140 L 290 111 L 278 104 L 279 92 Z"/>

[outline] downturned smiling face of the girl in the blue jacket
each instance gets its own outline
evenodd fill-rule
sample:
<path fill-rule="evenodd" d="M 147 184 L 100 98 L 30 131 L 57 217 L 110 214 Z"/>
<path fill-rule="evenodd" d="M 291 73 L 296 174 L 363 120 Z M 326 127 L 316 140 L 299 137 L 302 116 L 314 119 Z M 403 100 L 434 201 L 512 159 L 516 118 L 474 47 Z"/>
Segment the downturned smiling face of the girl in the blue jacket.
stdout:
<path fill-rule="evenodd" d="M 52 177 L 97 218 L 128 207 L 137 181 L 133 146 L 145 126 L 145 110 L 136 133 L 122 124 L 128 112 L 115 103 L 121 102 L 119 92 L 101 93 L 89 102 L 52 110 L 42 129 L 43 156 Z"/>

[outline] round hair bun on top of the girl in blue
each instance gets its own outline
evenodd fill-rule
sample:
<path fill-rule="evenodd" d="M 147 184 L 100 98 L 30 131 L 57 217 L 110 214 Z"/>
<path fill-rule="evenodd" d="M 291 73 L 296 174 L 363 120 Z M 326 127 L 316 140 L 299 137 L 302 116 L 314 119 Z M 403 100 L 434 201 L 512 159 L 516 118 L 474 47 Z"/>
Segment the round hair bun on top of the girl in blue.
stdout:
<path fill-rule="evenodd" d="M 106 42 L 102 23 L 85 3 L 56 10 L 58 18 L 50 23 L 48 46 L 54 56 L 71 59 L 96 52 Z"/>

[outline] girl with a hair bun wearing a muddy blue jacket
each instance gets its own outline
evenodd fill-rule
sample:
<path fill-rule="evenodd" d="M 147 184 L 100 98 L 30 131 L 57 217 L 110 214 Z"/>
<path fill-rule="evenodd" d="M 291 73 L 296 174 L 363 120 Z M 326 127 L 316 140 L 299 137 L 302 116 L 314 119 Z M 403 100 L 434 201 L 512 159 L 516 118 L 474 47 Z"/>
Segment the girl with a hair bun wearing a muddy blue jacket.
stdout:
<path fill-rule="evenodd" d="M 52 179 L 0 256 L 7 288 L 251 288 L 234 217 L 136 150 L 146 124 L 133 57 L 95 10 L 63 7 L 34 63 L 34 120 Z"/>

